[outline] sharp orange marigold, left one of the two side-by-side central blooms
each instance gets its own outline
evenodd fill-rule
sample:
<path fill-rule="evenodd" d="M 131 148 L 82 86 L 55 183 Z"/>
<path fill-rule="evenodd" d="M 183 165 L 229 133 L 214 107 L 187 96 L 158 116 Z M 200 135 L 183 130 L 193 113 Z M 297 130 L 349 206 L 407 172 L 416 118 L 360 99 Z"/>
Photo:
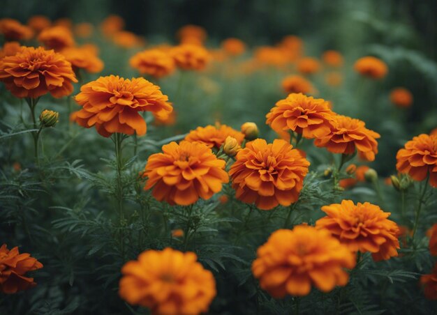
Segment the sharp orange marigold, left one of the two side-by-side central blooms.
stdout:
<path fill-rule="evenodd" d="M 142 175 L 148 178 L 145 190 L 153 187 L 158 201 L 188 206 L 211 198 L 228 183 L 225 164 L 205 144 L 171 142 L 163 146 L 163 153 L 150 155 Z"/>

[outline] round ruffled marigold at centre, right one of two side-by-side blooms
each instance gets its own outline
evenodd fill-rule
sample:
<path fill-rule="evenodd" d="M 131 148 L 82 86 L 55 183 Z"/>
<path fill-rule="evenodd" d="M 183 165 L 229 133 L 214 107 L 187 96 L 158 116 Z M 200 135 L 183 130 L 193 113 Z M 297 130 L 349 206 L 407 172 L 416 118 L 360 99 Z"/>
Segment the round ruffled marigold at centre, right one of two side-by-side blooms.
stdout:
<path fill-rule="evenodd" d="M 267 144 L 256 139 L 235 158 L 229 175 L 237 199 L 270 210 L 278 204 L 290 206 L 299 198 L 309 162 L 287 141 L 276 139 Z"/>

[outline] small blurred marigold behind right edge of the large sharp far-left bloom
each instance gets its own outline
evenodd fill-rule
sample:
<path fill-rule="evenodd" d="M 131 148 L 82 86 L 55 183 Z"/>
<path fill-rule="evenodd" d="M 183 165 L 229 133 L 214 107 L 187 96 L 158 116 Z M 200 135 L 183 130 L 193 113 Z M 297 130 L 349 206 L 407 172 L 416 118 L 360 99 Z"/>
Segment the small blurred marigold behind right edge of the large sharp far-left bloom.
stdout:
<path fill-rule="evenodd" d="M 90 73 L 103 70 L 103 61 L 87 46 L 68 47 L 61 50 L 61 54 L 71 63 L 73 70 L 83 69 Z"/>

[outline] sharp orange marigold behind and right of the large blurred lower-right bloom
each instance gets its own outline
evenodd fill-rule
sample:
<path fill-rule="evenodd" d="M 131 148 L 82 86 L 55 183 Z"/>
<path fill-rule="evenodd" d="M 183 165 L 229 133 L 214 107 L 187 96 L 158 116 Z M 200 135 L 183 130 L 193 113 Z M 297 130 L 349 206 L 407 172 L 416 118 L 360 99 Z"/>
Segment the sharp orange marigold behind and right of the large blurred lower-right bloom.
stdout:
<path fill-rule="evenodd" d="M 343 200 L 323 206 L 327 214 L 317 220 L 318 229 L 327 229 L 353 252 L 371 252 L 374 261 L 397 256 L 399 226 L 379 206 L 369 202 Z"/>

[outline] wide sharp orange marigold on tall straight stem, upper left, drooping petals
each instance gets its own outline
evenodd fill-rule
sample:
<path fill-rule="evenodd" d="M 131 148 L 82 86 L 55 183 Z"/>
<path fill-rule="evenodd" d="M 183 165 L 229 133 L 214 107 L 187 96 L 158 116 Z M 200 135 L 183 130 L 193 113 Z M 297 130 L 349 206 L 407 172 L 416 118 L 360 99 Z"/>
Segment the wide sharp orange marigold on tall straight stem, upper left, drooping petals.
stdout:
<path fill-rule="evenodd" d="M 103 137 L 114 132 L 145 135 L 146 122 L 138 112 L 152 112 L 162 117 L 172 112 L 168 96 L 142 77 L 99 77 L 84 84 L 75 100 L 83 107 L 75 115 L 76 123 L 84 128 L 95 125 Z"/>

